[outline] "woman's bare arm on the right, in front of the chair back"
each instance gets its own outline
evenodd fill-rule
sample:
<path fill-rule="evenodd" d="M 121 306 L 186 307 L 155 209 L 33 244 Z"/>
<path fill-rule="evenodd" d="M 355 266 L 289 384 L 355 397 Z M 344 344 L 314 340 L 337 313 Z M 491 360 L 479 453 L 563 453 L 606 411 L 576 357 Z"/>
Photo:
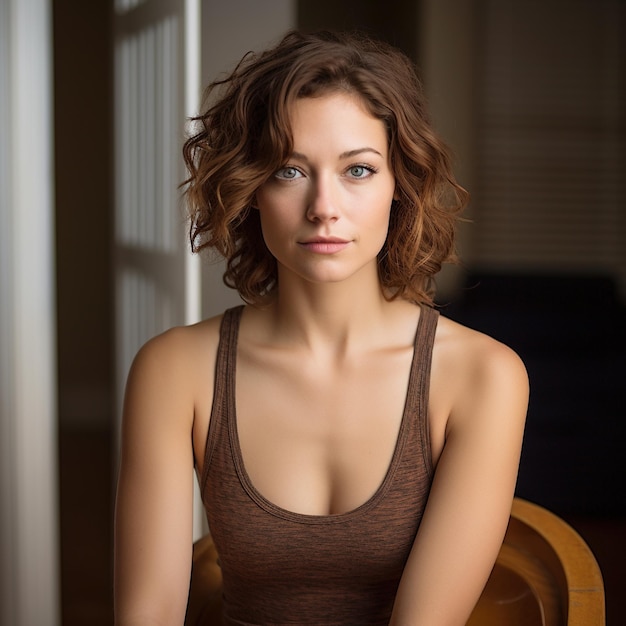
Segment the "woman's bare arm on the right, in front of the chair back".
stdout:
<path fill-rule="evenodd" d="M 464 626 L 507 528 L 528 404 L 519 357 L 486 337 L 462 368 L 390 626 Z"/>

